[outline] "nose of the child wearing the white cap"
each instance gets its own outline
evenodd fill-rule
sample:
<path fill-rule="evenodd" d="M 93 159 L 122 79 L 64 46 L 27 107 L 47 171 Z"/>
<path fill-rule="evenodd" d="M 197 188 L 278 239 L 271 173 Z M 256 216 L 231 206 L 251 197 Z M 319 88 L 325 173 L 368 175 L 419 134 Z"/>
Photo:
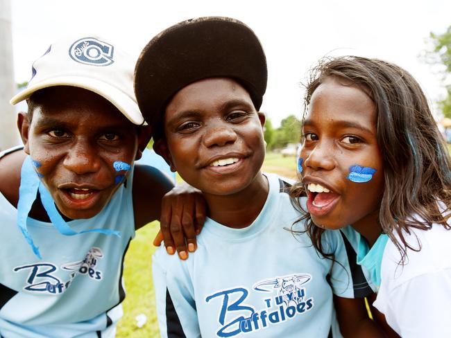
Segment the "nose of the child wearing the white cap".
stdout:
<path fill-rule="evenodd" d="M 77 175 L 83 175 L 99 170 L 100 159 L 94 147 L 80 141 L 69 149 L 63 164 Z"/>

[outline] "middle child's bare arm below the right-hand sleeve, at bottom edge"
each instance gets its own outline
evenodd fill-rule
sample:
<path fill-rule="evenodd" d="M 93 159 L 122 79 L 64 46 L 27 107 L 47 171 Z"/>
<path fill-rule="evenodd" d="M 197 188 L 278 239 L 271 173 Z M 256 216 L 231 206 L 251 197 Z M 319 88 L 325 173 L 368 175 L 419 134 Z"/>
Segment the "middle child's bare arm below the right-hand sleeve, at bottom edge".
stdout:
<path fill-rule="evenodd" d="M 364 299 L 346 299 L 334 295 L 334 307 L 343 337 L 386 337 L 377 323 L 368 317 Z"/>

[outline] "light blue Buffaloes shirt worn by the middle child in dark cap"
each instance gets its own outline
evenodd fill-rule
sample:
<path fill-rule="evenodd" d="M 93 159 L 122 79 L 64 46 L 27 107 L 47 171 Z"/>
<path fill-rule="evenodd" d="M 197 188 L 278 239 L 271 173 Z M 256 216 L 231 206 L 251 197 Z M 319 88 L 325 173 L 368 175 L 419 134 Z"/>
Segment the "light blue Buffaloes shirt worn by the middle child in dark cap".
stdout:
<path fill-rule="evenodd" d="M 232 229 L 207 219 L 198 249 L 186 261 L 164 247 L 155 251 L 162 337 L 341 337 L 332 293 L 355 296 L 343 238 L 339 231 L 325 232 L 325 247 L 340 263 L 332 269 L 307 233 L 290 231 L 300 215 L 287 184 L 266 177 L 269 195 L 253 224 Z"/>

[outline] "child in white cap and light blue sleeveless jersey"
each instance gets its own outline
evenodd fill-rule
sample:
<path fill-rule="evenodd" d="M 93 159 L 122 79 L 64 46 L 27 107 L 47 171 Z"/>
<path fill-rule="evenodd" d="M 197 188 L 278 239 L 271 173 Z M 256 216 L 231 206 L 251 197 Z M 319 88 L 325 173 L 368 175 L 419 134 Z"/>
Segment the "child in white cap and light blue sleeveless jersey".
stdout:
<path fill-rule="evenodd" d="M 134 65 L 109 40 L 62 39 L 11 100 L 28 112 L 23 150 L 0 154 L 1 337 L 114 336 L 128 244 L 172 188 L 134 165 L 151 136 Z"/>

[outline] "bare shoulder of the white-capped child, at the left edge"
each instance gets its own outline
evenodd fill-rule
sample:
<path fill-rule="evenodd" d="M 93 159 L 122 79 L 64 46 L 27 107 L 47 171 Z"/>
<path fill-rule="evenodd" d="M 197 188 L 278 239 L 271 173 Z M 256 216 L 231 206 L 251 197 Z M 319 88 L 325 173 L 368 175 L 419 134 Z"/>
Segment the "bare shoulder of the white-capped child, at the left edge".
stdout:
<path fill-rule="evenodd" d="M 19 200 L 20 170 L 25 157 L 22 147 L 0 153 L 0 193 L 14 206 Z"/>

